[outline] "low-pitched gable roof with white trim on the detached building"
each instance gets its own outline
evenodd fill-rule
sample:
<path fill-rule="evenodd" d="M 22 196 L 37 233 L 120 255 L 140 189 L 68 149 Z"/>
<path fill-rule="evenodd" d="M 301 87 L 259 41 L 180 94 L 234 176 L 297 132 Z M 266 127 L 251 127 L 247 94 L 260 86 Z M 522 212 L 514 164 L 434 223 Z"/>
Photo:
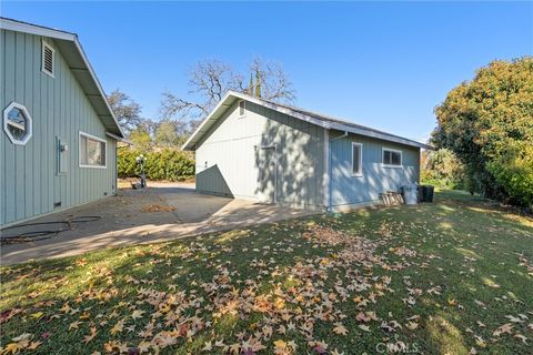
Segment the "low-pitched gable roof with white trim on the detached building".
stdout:
<path fill-rule="evenodd" d="M 228 91 L 224 98 L 217 104 L 217 106 L 211 111 L 211 113 L 202 121 L 202 123 L 198 126 L 198 129 L 192 133 L 192 135 L 183 144 L 183 150 L 195 150 L 197 143 L 202 139 L 202 136 L 213 126 L 213 124 L 222 116 L 224 111 L 231 106 L 237 100 L 245 100 L 259 104 L 261 106 L 288 114 L 290 116 L 300 119 L 305 122 L 310 122 L 312 124 L 316 124 L 322 126 L 326 130 L 336 130 L 343 131 L 365 136 L 371 136 L 389 142 L 401 143 L 405 145 L 416 146 L 433 150 L 433 146 L 416 142 L 400 135 L 386 133 L 383 131 L 379 131 L 375 129 L 371 129 L 369 126 L 364 126 L 361 124 L 356 124 L 353 122 L 339 120 L 335 118 L 331 118 L 321 113 L 303 110 L 300 108 L 294 108 L 285 104 L 280 104 L 275 102 L 271 102 L 269 100 L 264 100 L 261 98 L 251 97 L 245 93 L 237 92 L 237 91 Z"/>

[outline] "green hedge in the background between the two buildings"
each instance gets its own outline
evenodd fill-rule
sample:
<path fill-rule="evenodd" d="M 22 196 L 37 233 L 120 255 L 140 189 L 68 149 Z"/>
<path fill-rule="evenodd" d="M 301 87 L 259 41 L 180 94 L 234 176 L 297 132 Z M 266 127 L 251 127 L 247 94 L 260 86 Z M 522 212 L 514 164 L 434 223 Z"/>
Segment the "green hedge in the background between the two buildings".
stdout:
<path fill-rule="evenodd" d="M 190 153 L 175 149 L 143 152 L 129 148 L 118 151 L 119 178 L 139 175 L 140 169 L 135 158 L 140 154 L 145 158 L 144 173 L 149 180 L 183 181 L 194 178 L 194 156 Z"/>

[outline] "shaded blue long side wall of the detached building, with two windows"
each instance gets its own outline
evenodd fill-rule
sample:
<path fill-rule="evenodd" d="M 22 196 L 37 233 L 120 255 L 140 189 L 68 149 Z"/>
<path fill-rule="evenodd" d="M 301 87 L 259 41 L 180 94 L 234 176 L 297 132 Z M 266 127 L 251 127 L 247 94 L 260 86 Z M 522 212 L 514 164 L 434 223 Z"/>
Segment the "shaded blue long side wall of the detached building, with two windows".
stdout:
<path fill-rule="evenodd" d="M 332 138 L 334 139 L 334 135 Z M 363 144 L 362 176 L 352 176 L 352 142 Z M 330 200 L 332 207 L 375 203 L 382 192 L 398 191 L 400 186 L 406 183 L 419 182 L 419 148 L 355 134 L 333 140 L 330 144 Z M 402 151 L 401 168 L 382 165 L 383 148 Z"/>

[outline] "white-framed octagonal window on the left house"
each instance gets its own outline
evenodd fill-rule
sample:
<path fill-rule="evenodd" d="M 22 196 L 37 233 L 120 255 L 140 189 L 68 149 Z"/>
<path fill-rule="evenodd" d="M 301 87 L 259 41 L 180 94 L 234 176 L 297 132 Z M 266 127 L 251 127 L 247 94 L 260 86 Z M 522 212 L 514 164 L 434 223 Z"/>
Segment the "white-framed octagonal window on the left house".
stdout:
<path fill-rule="evenodd" d="M 11 102 L 3 110 L 3 131 L 13 144 L 24 145 L 31 138 L 31 116 L 24 105 Z"/>

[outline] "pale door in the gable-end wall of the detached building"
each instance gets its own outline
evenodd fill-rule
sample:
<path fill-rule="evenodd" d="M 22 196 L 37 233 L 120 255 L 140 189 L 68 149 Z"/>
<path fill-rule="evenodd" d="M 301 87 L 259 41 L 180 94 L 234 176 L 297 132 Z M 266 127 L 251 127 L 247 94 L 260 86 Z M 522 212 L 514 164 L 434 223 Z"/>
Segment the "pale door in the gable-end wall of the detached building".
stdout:
<path fill-rule="evenodd" d="M 276 203 L 278 164 L 275 145 L 259 150 L 259 200 L 262 203 Z"/>

